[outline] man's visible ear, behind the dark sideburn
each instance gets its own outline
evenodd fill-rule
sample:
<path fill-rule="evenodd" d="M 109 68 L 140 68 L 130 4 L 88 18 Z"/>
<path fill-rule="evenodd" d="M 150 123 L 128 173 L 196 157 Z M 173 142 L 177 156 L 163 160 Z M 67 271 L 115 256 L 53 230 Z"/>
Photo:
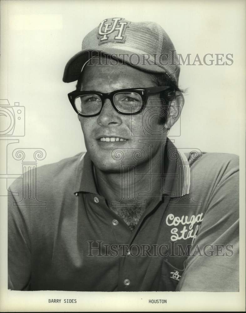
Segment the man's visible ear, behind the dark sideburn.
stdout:
<path fill-rule="evenodd" d="M 176 98 L 170 103 L 167 114 L 166 128 L 170 129 L 180 117 L 184 105 L 184 96 L 182 92 L 176 91 Z"/>

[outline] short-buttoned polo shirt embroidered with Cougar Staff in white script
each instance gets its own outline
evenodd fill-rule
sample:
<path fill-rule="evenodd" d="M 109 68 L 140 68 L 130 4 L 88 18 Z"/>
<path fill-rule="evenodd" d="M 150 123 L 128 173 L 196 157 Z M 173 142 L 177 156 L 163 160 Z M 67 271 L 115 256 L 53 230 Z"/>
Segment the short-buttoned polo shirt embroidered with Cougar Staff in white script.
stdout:
<path fill-rule="evenodd" d="M 97 192 L 87 153 L 26 173 L 35 201 L 31 179 L 13 182 L 9 288 L 238 291 L 238 156 L 189 158 L 168 140 L 160 162 L 149 183 L 161 191 L 143 190 L 152 200 L 133 231 Z"/>

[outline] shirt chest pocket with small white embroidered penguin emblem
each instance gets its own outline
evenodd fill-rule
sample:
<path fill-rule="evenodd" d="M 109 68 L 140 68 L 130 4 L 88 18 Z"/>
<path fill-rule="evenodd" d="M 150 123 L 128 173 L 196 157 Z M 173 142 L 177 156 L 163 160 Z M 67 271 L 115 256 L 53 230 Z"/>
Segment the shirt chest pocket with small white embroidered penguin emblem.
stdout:
<path fill-rule="evenodd" d="M 182 269 L 180 269 L 173 266 L 170 262 L 164 259 L 161 265 L 161 280 L 159 290 L 175 291 L 179 280 L 183 275 L 184 269 L 184 262 L 182 264 Z"/>

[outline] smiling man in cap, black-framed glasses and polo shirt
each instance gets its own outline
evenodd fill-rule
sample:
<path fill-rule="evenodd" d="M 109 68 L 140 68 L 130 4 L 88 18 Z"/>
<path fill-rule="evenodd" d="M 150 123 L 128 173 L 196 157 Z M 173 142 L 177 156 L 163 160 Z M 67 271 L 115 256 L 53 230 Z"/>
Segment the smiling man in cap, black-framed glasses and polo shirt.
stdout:
<path fill-rule="evenodd" d="M 45 207 L 11 185 L 10 289 L 238 291 L 238 157 L 168 139 L 179 71 L 156 23 L 108 18 L 86 35 L 63 80 L 78 81 L 87 152 L 38 168 Z"/>

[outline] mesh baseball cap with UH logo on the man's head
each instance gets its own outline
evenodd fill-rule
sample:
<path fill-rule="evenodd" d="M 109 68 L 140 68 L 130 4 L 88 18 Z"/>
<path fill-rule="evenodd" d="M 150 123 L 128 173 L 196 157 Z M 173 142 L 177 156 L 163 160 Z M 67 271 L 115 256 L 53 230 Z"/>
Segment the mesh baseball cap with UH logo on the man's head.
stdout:
<path fill-rule="evenodd" d="M 63 81 L 79 79 L 83 66 L 100 54 L 151 73 L 167 73 L 178 84 L 180 66 L 177 52 L 165 30 L 154 22 L 131 22 L 107 18 L 88 33 L 82 50 L 66 64 Z"/>

